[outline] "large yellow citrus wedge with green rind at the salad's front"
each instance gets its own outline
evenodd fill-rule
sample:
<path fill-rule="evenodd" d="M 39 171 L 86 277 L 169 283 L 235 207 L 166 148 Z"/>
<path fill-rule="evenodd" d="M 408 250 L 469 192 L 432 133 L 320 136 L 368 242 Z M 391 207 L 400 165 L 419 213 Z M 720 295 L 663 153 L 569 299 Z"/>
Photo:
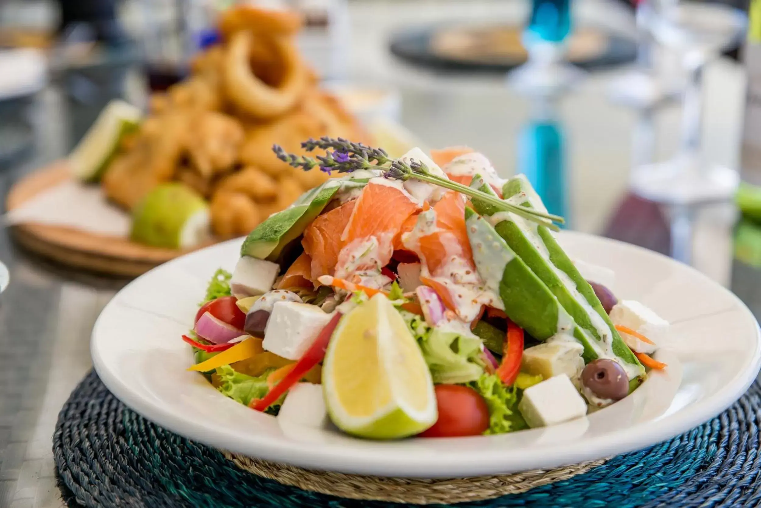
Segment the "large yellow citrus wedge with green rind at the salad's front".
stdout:
<path fill-rule="evenodd" d="M 354 436 L 399 439 L 431 427 L 438 417 L 420 348 L 380 293 L 349 312 L 333 333 L 323 390 L 333 423 Z"/>

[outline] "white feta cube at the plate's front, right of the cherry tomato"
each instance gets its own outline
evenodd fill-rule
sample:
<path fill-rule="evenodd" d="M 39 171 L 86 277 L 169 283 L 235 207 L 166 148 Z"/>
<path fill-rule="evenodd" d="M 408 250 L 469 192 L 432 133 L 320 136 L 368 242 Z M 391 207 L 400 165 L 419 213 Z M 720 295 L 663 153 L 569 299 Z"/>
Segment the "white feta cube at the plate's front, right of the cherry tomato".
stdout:
<path fill-rule="evenodd" d="M 529 427 L 556 425 L 587 414 L 587 403 L 568 375 L 556 375 L 524 391 L 518 411 Z"/>

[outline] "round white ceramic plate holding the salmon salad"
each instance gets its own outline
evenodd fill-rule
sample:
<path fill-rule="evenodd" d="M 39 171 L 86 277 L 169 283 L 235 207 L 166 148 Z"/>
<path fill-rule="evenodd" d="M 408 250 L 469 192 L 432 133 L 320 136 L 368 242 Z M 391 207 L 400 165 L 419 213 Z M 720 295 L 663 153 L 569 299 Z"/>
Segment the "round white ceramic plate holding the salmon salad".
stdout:
<path fill-rule="evenodd" d="M 556 427 L 501 436 L 373 442 L 284 424 L 219 394 L 180 335 L 207 280 L 231 270 L 240 240 L 180 257 L 126 286 L 103 309 L 91 350 L 100 378 L 129 407 L 190 439 L 306 468 L 406 477 L 463 477 L 609 457 L 689 430 L 737 400 L 759 370 L 759 327 L 728 290 L 692 268 L 618 241 L 564 232 L 568 254 L 616 270 L 614 292 L 673 323 L 669 363 L 631 396 Z"/>

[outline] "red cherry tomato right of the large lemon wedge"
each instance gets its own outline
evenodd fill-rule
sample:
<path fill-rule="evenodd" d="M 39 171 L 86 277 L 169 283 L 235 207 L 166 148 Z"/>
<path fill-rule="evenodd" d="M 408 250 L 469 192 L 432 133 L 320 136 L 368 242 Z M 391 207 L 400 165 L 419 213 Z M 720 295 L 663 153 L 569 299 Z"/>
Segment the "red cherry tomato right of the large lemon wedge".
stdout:
<path fill-rule="evenodd" d="M 422 437 L 479 436 L 489 428 L 489 407 L 467 386 L 436 385 L 438 420 Z"/>

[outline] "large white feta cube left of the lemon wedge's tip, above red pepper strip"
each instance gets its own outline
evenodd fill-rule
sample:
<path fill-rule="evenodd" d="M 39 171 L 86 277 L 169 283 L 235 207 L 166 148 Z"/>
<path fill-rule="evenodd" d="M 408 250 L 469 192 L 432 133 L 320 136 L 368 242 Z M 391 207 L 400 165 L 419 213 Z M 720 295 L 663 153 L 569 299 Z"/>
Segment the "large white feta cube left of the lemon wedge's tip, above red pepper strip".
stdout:
<path fill-rule="evenodd" d="M 277 302 L 264 330 L 262 347 L 287 359 L 299 359 L 333 316 L 317 305 Z"/>

